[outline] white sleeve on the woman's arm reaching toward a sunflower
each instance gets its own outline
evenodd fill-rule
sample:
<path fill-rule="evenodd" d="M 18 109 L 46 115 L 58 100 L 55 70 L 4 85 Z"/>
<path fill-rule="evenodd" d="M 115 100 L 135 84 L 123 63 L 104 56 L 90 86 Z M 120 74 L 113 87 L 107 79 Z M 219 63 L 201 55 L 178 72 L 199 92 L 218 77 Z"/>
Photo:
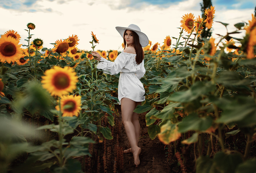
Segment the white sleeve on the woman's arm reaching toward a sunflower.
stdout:
<path fill-rule="evenodd" d="M 127 54 L 120 53 L 114 62 L 108 61 L 107 59 L 101 58 L 99 64 L 97 65 L 97 69 L 102 69 L 105 71 L 109 71 L 110 75 L 118 74 L 125 66 L 129 58 L 126 57 Z"/>

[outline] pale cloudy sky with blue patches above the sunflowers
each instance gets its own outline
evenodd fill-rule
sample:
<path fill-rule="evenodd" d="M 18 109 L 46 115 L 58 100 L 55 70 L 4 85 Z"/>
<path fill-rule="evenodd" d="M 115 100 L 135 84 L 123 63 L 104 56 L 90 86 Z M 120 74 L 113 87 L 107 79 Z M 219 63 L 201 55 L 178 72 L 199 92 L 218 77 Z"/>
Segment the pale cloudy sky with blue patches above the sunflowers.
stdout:
<path fill-rule="evenodd" d="M 77 35 L 78 49 L 92 50 L 91 32 L 99 44 L 96 50 L 122 50 L 123 38 L 116 26 L 136 24 L 152 44 L 163 45 L 166 36 L 179 37 L 182 16 L 201 16 L 202 0 L 0 0 L 0 34 L 14 30 L 21 35 L 21 44 L 28 37 L 27 24 L 35 24 L 31 38 L 43 40 L 43 47 L 53 48 L 60 39 Z M 255 0 L 212 0 L 215 7 L 212 36 L 235 31 L 234 24 L 251 20 Z M 216 22 L 228 23 L 225 26 Z M 184 35 L 187 35 L 184 33 Z M 244 36 L 244 32 L 232 35 Z M 172 44 L 176 40 L 172 39 Z M 25 47 L 22 47 L 25 48 Z"/>

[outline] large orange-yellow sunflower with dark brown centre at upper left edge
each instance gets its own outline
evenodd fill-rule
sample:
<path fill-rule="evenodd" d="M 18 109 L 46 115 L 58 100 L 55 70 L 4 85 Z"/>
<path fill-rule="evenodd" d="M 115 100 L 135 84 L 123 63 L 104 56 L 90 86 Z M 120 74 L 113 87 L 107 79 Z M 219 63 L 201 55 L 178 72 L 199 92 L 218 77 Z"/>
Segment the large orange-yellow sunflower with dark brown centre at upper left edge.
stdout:
<path fill-rule="evenodd" d="M 22 54 L 21 44 L 13 37 L 0 38 L 0 61 L 4 63 L 14 63 L 15 59 Z"/>

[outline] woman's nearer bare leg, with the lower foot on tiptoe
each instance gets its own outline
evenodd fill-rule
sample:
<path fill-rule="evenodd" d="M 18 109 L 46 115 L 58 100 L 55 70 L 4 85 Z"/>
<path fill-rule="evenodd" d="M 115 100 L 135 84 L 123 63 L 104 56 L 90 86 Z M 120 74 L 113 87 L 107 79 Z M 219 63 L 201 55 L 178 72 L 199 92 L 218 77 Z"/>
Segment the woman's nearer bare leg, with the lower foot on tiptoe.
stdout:
<path fill-rule="evenodd" d="M 141 151 L 137 144 L 137 136 L 139 136 L 137 125 L 138 123 L 135 123 L 136 127 L 132 123 L 132 120 L 135 120 L 137 122 L 136 118 L 133 118 L 133 110 L 135 109 L 136 105 L 136 102 L 129 98 L 122 98 L 121 100 L 123 124 L 125 126 L 126 135 L 128 137 L 133 152 L 134 163 L 136 166 L 138 166 L 140 164 L 139 154 Z"/>

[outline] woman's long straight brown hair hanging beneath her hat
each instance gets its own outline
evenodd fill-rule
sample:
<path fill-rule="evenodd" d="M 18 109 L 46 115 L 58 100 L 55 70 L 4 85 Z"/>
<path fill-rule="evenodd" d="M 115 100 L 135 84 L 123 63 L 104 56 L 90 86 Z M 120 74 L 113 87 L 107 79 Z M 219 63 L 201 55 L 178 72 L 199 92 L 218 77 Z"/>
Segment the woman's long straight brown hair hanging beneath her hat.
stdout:
<path fill-rule="evenodd" d="M 127 29 L 125 30 L 125 32 L 127 31 Z M 132 36 L 133 36 L 133 46 L 135 48 L 135 52 L 136 52 L 136 63 L 137 64 L 140 64 L 142 63 L 143 59 L 144 59 L 144 51 L 142 49 L 142 46 L 140 44 L 140 39 L 138 37 L 138 34 L 135 32 L 135 31 L 132 31 Z M 124 44 L 125 44 L 125 47 L 126 47 L 126 41 L 125 41 L 125 32 L 124 32 Z M 124 48 L 125 50 L 125 48 Z"/>

